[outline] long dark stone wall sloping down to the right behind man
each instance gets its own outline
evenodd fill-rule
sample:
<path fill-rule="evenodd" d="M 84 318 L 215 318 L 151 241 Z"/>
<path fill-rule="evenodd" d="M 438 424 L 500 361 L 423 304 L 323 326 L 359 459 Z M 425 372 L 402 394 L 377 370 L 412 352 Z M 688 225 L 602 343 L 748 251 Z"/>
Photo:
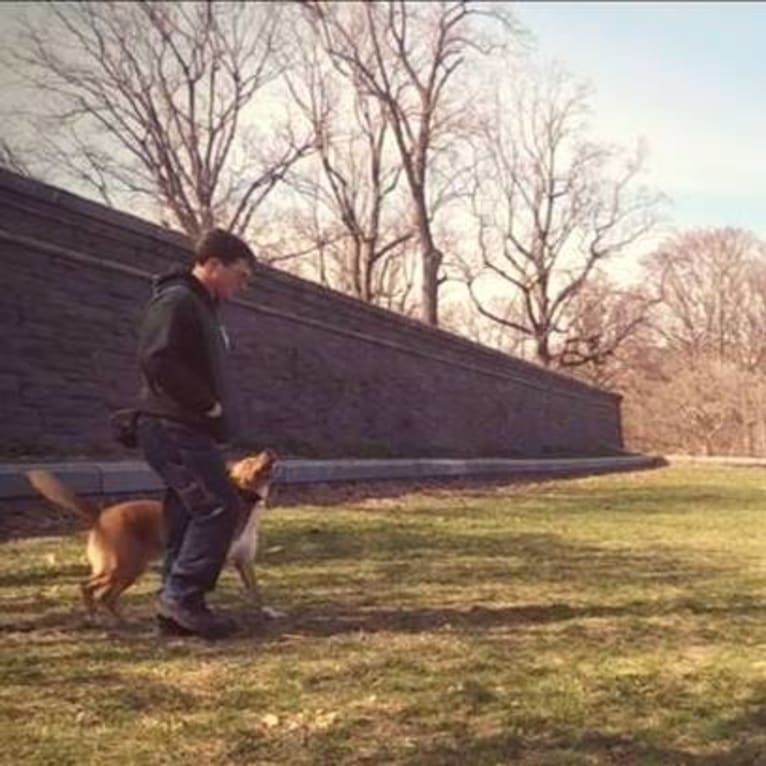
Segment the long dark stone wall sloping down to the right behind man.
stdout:
<path fill-rule="evenodd" d="M 186 239 L 0 171 L 0 451 L 116 455 L 152 273 Z M 604 454 L 620 399 L 266 266 L 226 307 L 243 446 L 316 457 Z"/>

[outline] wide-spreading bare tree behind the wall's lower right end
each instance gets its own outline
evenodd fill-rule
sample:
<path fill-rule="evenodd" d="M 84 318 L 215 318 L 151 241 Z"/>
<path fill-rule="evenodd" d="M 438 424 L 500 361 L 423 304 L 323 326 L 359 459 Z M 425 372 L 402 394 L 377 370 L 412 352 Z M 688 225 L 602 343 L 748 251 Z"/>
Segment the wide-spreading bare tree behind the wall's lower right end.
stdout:
<path fill-rule="evenodd" d="M 605 347 L 602 331 L 598 351 L 587 351 L 575 326 L 578 293 L 597 266 L 653 229 L 660 198 L 637 187 L 640 153 L 625 158 L 586 139 L 587 90 L 561 70 L 509 89 L 479 143 L 472 196 L 479 262 L 463 260 L 464 279 L 482 314 L 534 339 L 543 365 L 582 364 L 620 335 Z M 509 300 L 521 296 L 521 317 L 493 310 L 477 285 L 487 277 Z"/>

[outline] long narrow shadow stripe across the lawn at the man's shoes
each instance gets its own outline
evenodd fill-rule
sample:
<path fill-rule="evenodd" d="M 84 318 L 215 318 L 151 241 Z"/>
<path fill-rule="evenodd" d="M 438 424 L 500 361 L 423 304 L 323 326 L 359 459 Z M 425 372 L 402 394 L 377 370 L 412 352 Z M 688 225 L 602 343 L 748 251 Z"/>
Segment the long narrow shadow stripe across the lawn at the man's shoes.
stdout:
<path fill-rule="evenodd" d="M 160 637 L 151 612 L 144 603 L 128 622 L 120 625 L 102 615 L 87 617 L 84 612 L 57 609 L 34 617 L 17 614 L 0 621 L 0 635 L 32 632 L 51 633 L 62 646 L 70 644 L 72 651 L 87 657 L 118 661 L 151 659 L 158 651 L 171 653 L 180 647 L 204 647 L 206 655 L 246 655 L 255 646 L 283 640 L 322 639 L 328 637 L 375 633 L 430 633 L 447 631 L 466 633 L 473 637 L 497 629 L 523 630 L 552 624 L 582 624 L 584 620 L 630 620 L 658 617 L 715 617 L 727 624 L 742 617 L 766 617 L 766 607 L 746 602 L 725 606 L 711 605 L 692 599 L 673 601 L 632 601 L 616 606 L 599 604 L 572 605 L 568 603 L 524 604 L 520 606 L 465 608 L 352 608 L 348 604 L 324 603 L 306 609 L 298 615 L 270 620 L 241 605 L 228 610 L 240 623 L 240 632 L 220 643 L 202 642 L 195 638 Z M 709 632 L 712 626 L 706 628 Z M 666 640 L 672 640 L 672 628 L 662 628 Z M 688 638 L 686 633 L 684 636 Z M 764 714 L 766 722 L 766 713 Z"/>

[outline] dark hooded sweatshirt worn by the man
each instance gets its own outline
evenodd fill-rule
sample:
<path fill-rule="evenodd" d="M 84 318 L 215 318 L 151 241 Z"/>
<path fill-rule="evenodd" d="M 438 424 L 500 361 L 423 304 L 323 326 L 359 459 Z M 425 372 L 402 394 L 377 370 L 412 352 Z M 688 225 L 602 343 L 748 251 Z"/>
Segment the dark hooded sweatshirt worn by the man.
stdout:
<path fill-rule="evenodd" d="M 139 330 L 141 411 L 227 441 L 232 436 L 232 403 L 227 394 L 226 350 L 217 302 L 205 286 L 188 271 L 156 278 Z M 223 415 L 206 416 L 216 402 Z"/>

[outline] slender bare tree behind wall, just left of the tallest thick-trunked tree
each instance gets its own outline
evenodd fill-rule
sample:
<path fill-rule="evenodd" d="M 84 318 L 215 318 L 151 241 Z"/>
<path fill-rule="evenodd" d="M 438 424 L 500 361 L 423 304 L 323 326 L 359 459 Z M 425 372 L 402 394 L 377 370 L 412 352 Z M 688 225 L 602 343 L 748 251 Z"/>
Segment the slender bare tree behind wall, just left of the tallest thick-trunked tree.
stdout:
<path fill-rule="evenodd" d="M 404 257 L 413 231 L 397 210 L 401 165 L 395 155 L 392 161 L 388 123 L 379 101 L 338 82 L 321 50 L 306 45 L 302 53 L 302 76 L 294 74 L 301 83 L 292 92 L 317 151 L 291 183 L 311 208 L 322 257 L 335 261 L 333 286 L 368 303 L 389 303 L 392 290 L 399 292 L 392 278 L 403 273 L 393 261 Z"/>

